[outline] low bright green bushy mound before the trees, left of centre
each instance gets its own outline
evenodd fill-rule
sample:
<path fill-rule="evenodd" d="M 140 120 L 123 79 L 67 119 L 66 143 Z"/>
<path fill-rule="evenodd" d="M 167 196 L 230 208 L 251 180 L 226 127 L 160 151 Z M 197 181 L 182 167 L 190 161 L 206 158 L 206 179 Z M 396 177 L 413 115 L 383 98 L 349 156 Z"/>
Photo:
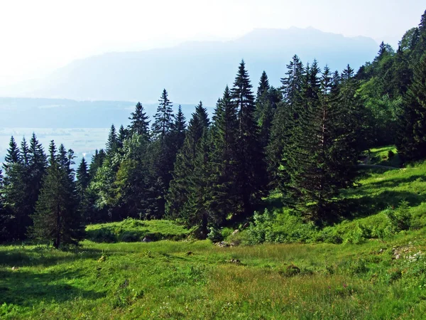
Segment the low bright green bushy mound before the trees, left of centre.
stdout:
<path fill-rule="evenodd" d="M 128 218 L 117 223 L 88 225 L 87 239 L 94 242 L 138 242 L 143 238 L 152 241 L 182 240 L 190 234 L 182 225 L 169 220 L 136 220 Z"/>

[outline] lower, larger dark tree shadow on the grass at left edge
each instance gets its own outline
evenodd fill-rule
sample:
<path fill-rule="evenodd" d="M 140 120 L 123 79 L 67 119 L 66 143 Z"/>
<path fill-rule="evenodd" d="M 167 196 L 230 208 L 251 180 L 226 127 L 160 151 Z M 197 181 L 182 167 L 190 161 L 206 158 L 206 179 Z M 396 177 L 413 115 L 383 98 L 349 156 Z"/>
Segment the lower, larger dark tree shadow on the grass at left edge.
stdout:
<path fill-rule="evenodd" d="M 80 271 L 33 273 L 21 270 L 0 271 L 0 304 L 31 307 L 42 301 L 66 302 L 77 297 L 100 299 L 106 292 L 82 289 L 68 284 L 70 279 L 84 277 Z"/>

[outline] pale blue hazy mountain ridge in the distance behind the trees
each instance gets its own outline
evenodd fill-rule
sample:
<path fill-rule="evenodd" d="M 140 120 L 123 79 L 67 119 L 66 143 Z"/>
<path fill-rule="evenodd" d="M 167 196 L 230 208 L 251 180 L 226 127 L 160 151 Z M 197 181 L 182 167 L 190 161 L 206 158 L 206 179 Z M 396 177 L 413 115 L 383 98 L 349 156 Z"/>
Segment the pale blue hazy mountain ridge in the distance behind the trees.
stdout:
<path fill-rule="evenodd" d="M 130 100 L 155 103 L 163 88 L 173 101 L 214 106 L 231 85 L 241 58 L 256 87 L 263 70 L 279 85 L 285 65 L 297 54 L 341 71 L 372 60 L 378 44 L 371 38 L 344 37 L 315 28 L 255 29 L 232 41 L 192 41 L 172 48 L 105 53 L 75 60 L 48 78 L 0 88 L 2 96 Z"/>

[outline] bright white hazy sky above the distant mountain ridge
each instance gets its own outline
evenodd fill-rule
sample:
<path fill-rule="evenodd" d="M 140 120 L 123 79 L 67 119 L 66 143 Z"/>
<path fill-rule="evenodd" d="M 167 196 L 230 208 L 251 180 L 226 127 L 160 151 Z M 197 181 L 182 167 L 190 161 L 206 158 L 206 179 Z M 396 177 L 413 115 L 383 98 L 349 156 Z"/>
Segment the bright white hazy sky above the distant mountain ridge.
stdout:
<path fill-rule="evenodd" d="M 395 45 L 425 0 L 0 0 L 0 85 L 107 51 L 305 28 Z"/>

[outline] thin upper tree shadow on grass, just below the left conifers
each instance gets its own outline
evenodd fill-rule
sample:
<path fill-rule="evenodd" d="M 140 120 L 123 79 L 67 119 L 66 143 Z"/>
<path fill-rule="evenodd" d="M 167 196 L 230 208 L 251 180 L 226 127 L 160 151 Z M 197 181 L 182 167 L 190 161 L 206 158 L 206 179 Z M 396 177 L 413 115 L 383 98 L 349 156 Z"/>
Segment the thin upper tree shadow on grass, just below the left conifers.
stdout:
<path fill-rule="evenodd" d="M 16 247 L 16 249 L 0 250 L 0 265 L 6 267 L 28 267 L 43 265 L 48 267 L 58 263 L 72 262 L 79 259 L 99 259 L 102 251 L 97 249 L 82 248 L 73 252 L 49 250 L 46 247 L 33 247 L 30 249 Z"/>

